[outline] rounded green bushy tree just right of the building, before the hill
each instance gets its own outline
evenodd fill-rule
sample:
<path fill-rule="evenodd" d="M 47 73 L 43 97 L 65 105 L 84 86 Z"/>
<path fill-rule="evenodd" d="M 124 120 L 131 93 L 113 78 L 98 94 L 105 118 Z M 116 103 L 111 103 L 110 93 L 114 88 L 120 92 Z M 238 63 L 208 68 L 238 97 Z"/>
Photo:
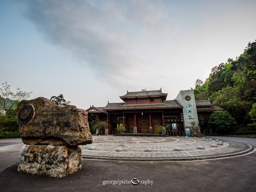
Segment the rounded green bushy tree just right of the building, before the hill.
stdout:
<path fill-rule="evenodd" d="M 236 120 L 227 111 L 215 111 L 209 117 L 208 126 L 213 133 L 228 134 L 236 125 Z"/>

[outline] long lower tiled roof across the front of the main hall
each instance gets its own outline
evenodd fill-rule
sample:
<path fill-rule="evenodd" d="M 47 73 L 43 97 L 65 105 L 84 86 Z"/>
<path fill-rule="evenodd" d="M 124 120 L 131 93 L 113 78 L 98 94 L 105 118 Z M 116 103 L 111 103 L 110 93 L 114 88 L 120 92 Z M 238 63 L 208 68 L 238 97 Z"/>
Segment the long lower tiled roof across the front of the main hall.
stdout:
<path fill-rule="evenodd" d="M 123 103 L 109 103 L 104 110 L 151 109 L 151 108 L 182 108 L 177 100 L 166 100 L 157 104 L 126 105 Z"/>

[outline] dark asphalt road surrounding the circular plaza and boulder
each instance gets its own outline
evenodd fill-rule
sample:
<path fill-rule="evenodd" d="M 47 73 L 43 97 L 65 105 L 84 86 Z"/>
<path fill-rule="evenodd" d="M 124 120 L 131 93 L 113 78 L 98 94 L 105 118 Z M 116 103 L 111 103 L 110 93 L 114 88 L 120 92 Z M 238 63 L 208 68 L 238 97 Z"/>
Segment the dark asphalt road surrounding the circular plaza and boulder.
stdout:
<path fill-rule="evenodd" d="M 212 137 L 213 138 L 213 137 Z M 218 137 L 221 140 L 237 138 Z M 255 145 L 256 139 L 238 138 L 240 142 Z M 1 141 L 0 141 L 1 143 Z M 0 191 L 55 191 L 55 192 L 96 192 L 96 191 L 159 191 L 159 192 L 255 192 L 256 191 L 256 152 L 234 158 L 192 162 L 123 162 L 103 160 L 83 160 L 82 170 L 56 179 L 16 172 L 20 152 L 12 148 L 16 162 L 0 172 Z M 22 146 L 22 145 L 21 145 Z M 17 149 L 16 149 L 17 150 Z M 140 184 L 103 185 L 105 180 L 140 180 Z M 153 184 L 141 184 L 144 180 Z M 135 180 L 134 180 L 135 181 Z"/>

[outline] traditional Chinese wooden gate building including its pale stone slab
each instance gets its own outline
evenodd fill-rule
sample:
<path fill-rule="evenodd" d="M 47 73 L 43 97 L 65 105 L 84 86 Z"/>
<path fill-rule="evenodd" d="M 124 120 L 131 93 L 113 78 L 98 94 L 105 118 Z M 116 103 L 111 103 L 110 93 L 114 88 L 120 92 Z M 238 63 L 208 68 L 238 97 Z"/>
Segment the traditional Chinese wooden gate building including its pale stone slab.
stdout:
<path fill-rule="evenodd" d="M 120 96 L 123 102 L 109 103 L 105 107 L 91 106 L 88 112 L 89 122 L 106 120 L 109 133 L 114 134 L 118 124 L 123 124 L 126 133 L 152 132 L 158 134 L 157 128 L 171 128 L 172 134 L 184 135 L 185 129 L 205 128 L 208 116 L 213 111 L 222 110 L 209 100 L 196 101 L 193 90 L 180 91 L 174 100 L 166 100 L 168 93 L 160 90 L 141 90 L 128 92 Z M 198 120 L 199 118 L 199 120 Z"/>

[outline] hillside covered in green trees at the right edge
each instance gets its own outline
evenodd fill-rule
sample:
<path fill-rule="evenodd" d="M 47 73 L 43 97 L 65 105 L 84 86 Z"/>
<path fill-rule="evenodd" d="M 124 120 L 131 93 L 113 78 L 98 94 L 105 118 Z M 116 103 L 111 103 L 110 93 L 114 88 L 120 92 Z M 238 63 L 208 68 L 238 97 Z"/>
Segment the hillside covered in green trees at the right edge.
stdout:
<path fill-rule="evenodd" d="M 196 80 L 194 93 L 196 100 L 210 98 L 227 110 L 235 118 L 237 130 L 255 130 L 256 41 L 249 42 L 236 60 L 228 59 L 212 68 L 204 83 Z"/>

